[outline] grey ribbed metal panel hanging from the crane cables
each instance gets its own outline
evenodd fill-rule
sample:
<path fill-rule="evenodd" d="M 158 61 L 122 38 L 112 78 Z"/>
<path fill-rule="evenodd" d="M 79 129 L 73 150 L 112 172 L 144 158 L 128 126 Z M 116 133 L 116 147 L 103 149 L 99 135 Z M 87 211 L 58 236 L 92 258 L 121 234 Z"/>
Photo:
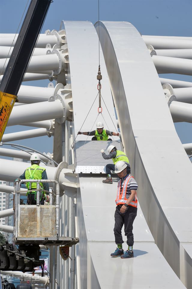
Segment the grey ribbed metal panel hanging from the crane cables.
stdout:
<path fill-rule="evenodd" d="M 106 174 L 106 164 L 113 164 L 112 159 L 105 160 L 102 157 L 101 149 L 107 152 L 107 147 L 110 145 L 116 146 L 122 150 L 120 141 L 77 141 L 75 144 L 76 153 L 76 173 L 82 174 Z"/>

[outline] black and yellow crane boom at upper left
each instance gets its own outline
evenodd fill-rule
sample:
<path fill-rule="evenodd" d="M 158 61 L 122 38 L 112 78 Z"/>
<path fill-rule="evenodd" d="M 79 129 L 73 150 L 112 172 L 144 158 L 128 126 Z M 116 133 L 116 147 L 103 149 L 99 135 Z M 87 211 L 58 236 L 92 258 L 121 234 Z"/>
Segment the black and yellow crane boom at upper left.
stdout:
<path fill-rule="evenodd" d="M 0 84 L 0 141 L 52 0 L 31 0 Z"/>

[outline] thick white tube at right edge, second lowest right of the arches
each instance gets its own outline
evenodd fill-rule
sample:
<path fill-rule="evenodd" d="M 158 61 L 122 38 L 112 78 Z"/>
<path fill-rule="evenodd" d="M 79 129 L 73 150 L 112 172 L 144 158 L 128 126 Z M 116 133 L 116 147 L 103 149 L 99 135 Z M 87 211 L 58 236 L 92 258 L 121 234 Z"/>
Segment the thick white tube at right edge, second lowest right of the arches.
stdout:
<path fill-rule="evenodd" d="M 174 122 L 192 123 L 192 104 L 172 101 L 169 108 Z"/>

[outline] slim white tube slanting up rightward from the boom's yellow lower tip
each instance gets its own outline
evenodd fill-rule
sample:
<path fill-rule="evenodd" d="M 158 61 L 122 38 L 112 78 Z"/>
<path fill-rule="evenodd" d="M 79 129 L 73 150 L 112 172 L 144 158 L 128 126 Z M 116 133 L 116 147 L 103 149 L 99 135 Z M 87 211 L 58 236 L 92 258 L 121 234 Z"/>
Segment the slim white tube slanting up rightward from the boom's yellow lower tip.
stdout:
<path fill-rule="evenodd" d="M 47 136 L 46 128 L 36 128 L 29 131 L 18 131 L 11 134 L 4 134 L 2 137 L 2 142 L 9 142 L 13 140 L 24 140 L 32 137 L 42 137 Z"/>

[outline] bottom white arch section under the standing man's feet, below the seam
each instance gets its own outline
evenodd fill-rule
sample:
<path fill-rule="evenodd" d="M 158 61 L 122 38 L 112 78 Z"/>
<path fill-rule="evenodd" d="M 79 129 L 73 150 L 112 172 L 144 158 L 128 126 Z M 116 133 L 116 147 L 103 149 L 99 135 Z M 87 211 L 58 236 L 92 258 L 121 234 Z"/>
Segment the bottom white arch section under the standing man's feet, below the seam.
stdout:
<path fill-rule="evenodd" d="M 185 288 L 154 243 L 135 242 L 131 259 L 111 258 L 114 242 L 89 242 L 88 248 L 102 289 Z M 125 243 L 123 248 L 127 249 Z"/>

